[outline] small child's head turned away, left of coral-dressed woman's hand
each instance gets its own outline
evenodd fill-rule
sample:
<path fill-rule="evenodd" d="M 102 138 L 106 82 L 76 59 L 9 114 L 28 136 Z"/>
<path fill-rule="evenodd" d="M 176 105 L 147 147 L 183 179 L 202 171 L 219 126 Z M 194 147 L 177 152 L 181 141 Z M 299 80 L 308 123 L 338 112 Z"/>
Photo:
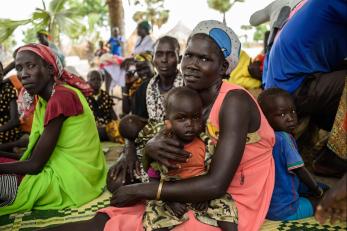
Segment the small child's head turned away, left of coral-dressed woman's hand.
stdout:
<path fill-rule="evenodd" d="M 125 139 L 135 140 L 146 124 L 146 119 L 140 116 L 126 115 L 119 122 L 119 133 Z"/>

